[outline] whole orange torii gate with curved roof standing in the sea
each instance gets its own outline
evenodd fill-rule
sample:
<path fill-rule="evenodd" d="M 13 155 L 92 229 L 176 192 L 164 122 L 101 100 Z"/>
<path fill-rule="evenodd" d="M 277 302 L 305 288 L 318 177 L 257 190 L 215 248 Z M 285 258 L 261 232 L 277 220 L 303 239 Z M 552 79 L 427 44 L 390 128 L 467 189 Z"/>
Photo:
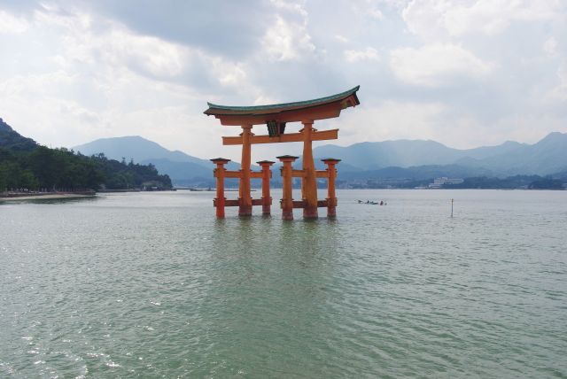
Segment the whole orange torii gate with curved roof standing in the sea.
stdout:
<path fill-rule="evenodd" d="M 262 205 L 262 213 L 269 214 L 271 197 L 269 197 L 269 178 L 271 170 L 269 166 L 274 162 L 264 160 L 258 162 L 262 167 L 260 172 L 252 172 L 251 148 L 255 143 L 290 143 L 303 142 L 303 165 L 301 170 L 294 170 L 292 162 L 298 157 L 282 156 L 277 157 L 283 162 L 283 198 L 281 202 L 284 220 L 293 219 L 293 208 L 303 208 L 305 219 L 316 219 L 318 217 L 317 208 L 327 207 L 328 217 L 335 216 L 337 198 L 335 197 L 335 165 L 340 159 L 323 159 L 327 165 L 326 170 L 315 170 L 313 159 L 313 141 L 324 141 L 338 138 L 338 129 L 318 131 L 313 128 L 315 120 L 324 120 L 338 117 L 343 109 L 360 104 L 356 92 L 360 86 L 349 89 L 345 92 L 330 97 L 322 97 L 314 100 L 301 101 L 296 103 L 272 104 L 259 106 L 226 106 L 207 103 L 209 108 L 205 111 L 206 115 L 214 115 L 221 120 L 221 125 L 234 125 L 242 128 L 242 133 L 238 136 L 223 136 L 223 145 L 242 145 L 242 160 L 239 171 L 228 171 L 224 165 L 229 159 L 211 159 L 216 164 L 214 176 L 217 179 L 216 215 L 224 217 L 225 206 L 238 206 L 239 216 L 252 215 L 252 205 Z M 286 124 L 289 122 L 301 122 L 303 128 L 298 133 L 285 134 Z M 254 125 L 266 125 L 268 135 L 254 135 L 252 127 Z M 293 177 L 301 178 L 301 197 L 300 201 L 293 201 L 291 198 L 291 182 Z M 227 200 L 224 197 L 224 178 L 238 178 L 240 180 L 239 193 L 237 200 Z M 262 198 L 252 199 L 250 193 L 250 179 L 262 179 Z M 328 198 L 317 200 L 317 178 L 327 178 Z"/>

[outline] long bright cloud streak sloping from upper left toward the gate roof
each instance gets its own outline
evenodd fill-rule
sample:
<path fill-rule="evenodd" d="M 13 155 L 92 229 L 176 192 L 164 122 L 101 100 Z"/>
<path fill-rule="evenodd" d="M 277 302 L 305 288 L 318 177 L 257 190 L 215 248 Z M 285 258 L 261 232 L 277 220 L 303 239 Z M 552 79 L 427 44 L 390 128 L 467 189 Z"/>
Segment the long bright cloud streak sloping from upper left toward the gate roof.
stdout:
<path fill-rule="evenodd" d="M 51 60 L 68 70 L 104 67 L 120 78 L 120 71 L 163 81 L 183 81 L 183 76 L 201 71 L 221 86 L 239 86 L 246 78 L 245 66 L 172 43 L 151 35 L 138 35 L 114 21 L 97 20 L 94 28 L 88 15 L 36 12 L 36 24 L 59 27 L 63 54 Z M 38 25 L 39 26 L 39 25 Z"/>

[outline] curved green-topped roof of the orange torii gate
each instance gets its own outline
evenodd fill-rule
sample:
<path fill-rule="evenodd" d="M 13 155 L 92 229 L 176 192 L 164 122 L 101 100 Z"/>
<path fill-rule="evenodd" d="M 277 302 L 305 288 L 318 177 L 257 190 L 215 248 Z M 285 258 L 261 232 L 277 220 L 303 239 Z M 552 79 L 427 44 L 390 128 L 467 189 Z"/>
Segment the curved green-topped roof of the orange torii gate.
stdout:
<path fill-rule="evenodd" d="M 204 113 L 208 115 L 212 115 L 212 114 L 254 114 L 254 113 L 268 113 L 268 112 L 269 113 L 282 112 L 290 109 L 308 108 L 316 105 L 333 103 L 335 101 L 343 100 L 351 96 L 354 97 L 356 104 L 360 104 L 358 97 L 356 97 L 356 91 L 358 91 L 360 88 L 361 86 L 356 86 L 353 89 L 349 89 L 345 92 L 341 92 L 336 95 L 331 95 L 328 97 L 320 97 L 306 101 L 297 101 L 294 103 L 253 105 L 253 106 L 229 106 L 229 105 L 206 103 L 208 104 L 209 108 Z"/>

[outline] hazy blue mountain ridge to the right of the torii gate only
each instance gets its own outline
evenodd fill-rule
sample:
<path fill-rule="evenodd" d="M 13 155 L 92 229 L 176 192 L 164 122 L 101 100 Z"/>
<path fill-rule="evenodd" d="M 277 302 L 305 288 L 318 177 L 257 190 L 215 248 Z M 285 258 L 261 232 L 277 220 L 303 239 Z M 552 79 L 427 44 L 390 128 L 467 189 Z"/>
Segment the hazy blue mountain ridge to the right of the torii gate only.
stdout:
<path fill-rule="evenodd" d="M 462 167 L 462 173 L 485 172 L 496 176 L 514 174 L 554 174 L 567 168 L 567 134 L 551 133 L 534 144 L 508 141 L 497 146 L 459 150 L 442 143 L 398 140 L 354 143 L 341 147 L 323 145 L 314 149 L 315 159 L 343 159 L 340 173 L 377 171 L 385 167 L 446 166 Z M 456 173 L 447 167 L 447 172 Z M 377 174 L 377 173 L 374 173 Z M 384 173 L 385 174 L 385 173 Z M 462 177 L 462 175 L 460 175 Z"/>

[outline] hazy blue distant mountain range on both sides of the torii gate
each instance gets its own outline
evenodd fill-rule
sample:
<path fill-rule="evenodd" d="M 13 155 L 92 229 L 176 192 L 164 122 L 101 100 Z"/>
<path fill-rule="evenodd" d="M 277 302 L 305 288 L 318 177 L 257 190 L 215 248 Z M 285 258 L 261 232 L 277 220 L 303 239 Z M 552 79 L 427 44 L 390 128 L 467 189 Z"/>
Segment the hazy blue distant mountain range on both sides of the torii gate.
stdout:
<path fill-rule="evenodd" d="M 74 150 L 85 155 L 103 152 L 111 159 L 151 163 L 178 185 L 214 184 L 213 165 L 209 160 L 183 151 L 169 151 L 140 136 L 99 139 L 75 146 Z M 314 157 L 318 168 L 324 166 L 319 159 L 342 159 L 338 165 L 338 180 L 343 181 L 548 175 L 567 171 L 567 134 L 551 133 L 534 144 L 509 141 L 468 150 L 423 140 L 354 143 L 346 147 L 323 145 L 314 149 Z M 300 166 L 300 159 L 296 166 Z M 229 169 L 238 168 L 236 162 L 229 163 Z"/>

